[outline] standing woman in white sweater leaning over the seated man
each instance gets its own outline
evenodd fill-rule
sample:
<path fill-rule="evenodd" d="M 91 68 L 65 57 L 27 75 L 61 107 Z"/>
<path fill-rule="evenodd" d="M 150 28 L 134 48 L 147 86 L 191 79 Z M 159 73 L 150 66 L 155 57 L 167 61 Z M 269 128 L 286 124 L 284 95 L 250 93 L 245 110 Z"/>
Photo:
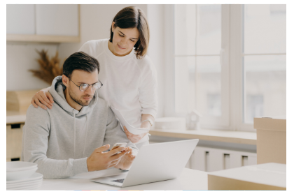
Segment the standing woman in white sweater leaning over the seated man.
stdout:
<path fill-rule="evenodd" d="M 97 91 L 99 97 L 120 110 L 132 126 L 148 129 L 154 123 L 158 106 L 156 70 L 146 55 L 149 37 L 146 15 L 140 8 L 131 6 L 113 18 L 109 39 L 90 40 L 79 50 L 99 61 L 99 80 L 104 84 Z M 51 108 L 53 98 L 48 91 L 38 91 L 31 104 Z M 124 130 L 138 148 L 149 144 L 148 133 L 134 135 L 125 126 Z"/>

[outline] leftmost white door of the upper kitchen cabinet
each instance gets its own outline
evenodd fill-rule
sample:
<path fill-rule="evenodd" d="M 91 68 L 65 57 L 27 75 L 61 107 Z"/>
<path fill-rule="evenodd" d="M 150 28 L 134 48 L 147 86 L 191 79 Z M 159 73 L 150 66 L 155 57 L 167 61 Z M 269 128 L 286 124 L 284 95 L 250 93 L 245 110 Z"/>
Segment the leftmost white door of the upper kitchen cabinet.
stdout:
<path fill-rule="evenodd" d="M 35 5 L 6 5 L 6 33 L 34 34 Z"/>

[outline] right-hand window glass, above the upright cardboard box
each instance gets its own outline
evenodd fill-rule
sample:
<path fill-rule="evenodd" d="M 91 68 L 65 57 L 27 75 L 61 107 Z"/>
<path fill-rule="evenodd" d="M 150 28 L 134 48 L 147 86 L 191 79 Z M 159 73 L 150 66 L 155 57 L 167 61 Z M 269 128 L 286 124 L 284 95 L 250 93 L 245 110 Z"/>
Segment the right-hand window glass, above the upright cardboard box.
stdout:
<path fill-rule="evenodd" d="M 286 5 L 244 5 L 244 118 L 286 115 Z"/>

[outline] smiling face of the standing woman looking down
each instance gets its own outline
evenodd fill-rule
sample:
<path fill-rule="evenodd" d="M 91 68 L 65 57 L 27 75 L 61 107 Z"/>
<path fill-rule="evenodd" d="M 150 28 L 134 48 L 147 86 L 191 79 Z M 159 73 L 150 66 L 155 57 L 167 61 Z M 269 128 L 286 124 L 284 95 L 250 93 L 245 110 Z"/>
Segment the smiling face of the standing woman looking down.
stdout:
<path fill-rule="evenodd" d="M 109 46 L 111 52 L 116 55 L 123 57 L 129 54 L 134 45 L 139 40 L 139 31 L 137 28 L 134 29 L 120 29 L 119 27 L 113 27 L 112 23 L 112 45 Z"/>

